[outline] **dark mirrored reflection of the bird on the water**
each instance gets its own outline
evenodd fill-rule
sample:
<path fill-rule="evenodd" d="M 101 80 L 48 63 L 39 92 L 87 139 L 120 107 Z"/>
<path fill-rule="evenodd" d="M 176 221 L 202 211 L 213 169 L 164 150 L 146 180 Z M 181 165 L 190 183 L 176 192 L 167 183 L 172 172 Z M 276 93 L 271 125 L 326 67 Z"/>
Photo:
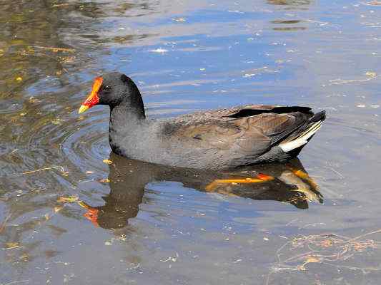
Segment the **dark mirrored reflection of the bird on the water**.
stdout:
<path fill-rule="evenodd" d="M 124 227 L 128 219 L 136 217 L 144 187 L 155 181 L 182 182 L 184 187 L 202 192 L 287 202 L 300 209 L 307 209 L 311 201 L 322 203 L 317 185 L 297 159 L 287 165 L 255 165 L 219 172 L 154 165 L 114 153 L 109 160 L 113 163 L 109 165 L 110 193 L 103 197 L 105 204 L 82 204 L 87 209 L 84 216 L 106 229 Z"/>

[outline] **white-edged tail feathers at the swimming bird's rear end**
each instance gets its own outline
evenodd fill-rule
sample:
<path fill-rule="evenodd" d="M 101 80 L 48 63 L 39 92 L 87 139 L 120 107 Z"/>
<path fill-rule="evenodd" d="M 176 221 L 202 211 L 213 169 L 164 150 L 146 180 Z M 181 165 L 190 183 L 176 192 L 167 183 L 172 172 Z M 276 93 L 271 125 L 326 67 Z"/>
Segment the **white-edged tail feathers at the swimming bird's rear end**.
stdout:
<path fill-rule="evenodd" d="M 323 121 L 325 120 L 325 111 L 316 113 L 308 120 L 307 123 L 295 130 L 286 140 L 280 142 L 279 147 L 284 152 L 297 150 L 299 147 L 305 145 L 313 135 L 320 129 Z M 300 148 L 301 149 L 301 148 Z"/>

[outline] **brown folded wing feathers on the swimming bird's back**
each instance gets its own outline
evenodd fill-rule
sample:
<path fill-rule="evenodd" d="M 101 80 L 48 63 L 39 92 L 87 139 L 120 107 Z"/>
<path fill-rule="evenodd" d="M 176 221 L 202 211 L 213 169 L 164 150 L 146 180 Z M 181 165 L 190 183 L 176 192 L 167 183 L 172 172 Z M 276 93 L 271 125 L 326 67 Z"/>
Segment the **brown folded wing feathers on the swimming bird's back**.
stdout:
<path fill-rule="evenodd" d="M 290 112 L 287 112 L 290 111 Z M 167 121 L 164 133 L 194 147 L 260 155 L 310 118 L 310 108 L 246 105 Z"/>

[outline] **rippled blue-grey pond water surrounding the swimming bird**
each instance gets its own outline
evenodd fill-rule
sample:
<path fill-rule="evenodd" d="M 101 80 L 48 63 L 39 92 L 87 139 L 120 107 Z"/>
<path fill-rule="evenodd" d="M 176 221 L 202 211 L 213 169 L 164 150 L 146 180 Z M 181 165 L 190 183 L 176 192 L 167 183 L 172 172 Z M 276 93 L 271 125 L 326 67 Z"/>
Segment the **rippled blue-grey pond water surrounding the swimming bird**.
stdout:
<path fill-rule="evenodd" d="M 380 228 L 380 9 L 1 1 L 0 284 L 378 284 L 380 234 L 351 238 Z M 279 180 L 284 165 L 234 173 L 272 182 L 206 192 L 228 174 L 110 154 L 107 108 L 76 110 L 114 70 L 137 82 L 151 118 L 246 103 L 327 110 L 292 162 L 323 198 Z M 71 195 L 89 209 L 57 202 Z"/>

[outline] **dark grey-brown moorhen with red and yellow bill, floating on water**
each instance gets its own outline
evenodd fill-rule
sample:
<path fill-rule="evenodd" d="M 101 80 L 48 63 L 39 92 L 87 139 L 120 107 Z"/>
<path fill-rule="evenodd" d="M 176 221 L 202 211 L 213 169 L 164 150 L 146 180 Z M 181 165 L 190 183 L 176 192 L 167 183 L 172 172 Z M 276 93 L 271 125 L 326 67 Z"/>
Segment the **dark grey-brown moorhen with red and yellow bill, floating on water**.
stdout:
<path fill-rule="evenodd" d="M 79 113 L 109 105 L 109 142 L 119 155 L 199 169 L 223 169 L 296 157 L 320 129 L 325 111 L 246 105 L 167 120 L 148 120 L 135 83 L 121 73 L 94 81 Z"/>

